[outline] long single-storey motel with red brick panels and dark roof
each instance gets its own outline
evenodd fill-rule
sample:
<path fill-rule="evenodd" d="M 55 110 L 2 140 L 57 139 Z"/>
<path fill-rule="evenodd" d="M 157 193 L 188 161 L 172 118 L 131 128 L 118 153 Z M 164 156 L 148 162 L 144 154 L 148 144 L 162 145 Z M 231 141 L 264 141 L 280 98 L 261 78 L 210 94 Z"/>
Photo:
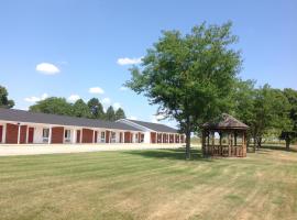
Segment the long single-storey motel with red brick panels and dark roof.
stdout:
<path fill-rule="evenodd" d="M 117 122 L 0 108 L 0 144 L 184 143 L 184 134 L 160 123 Z"/>

